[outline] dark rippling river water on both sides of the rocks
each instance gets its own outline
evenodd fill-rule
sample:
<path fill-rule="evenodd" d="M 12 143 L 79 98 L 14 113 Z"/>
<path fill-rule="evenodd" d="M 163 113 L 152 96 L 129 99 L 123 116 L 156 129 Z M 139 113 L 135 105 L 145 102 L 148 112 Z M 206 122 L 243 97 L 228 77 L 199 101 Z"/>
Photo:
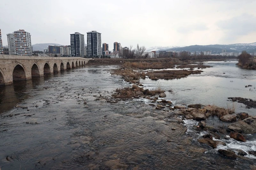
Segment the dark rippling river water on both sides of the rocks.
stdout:
<path fill-rule="evenodd" d="M 141 83 L 172 89 L 166 100 L 175 104 L 227 107 L 232 106 L 227 97 L 255 100 L 255 90 L 244 87 L 254 87 L 255 71 L 236 67 L 236 61 L 206 63 L 214 67 L 199 75 Z M 0 87 L 1 170 L 248 169 L 255 164 L 254 157 L 231 160 L 199 144 L 202 134 L 191 128 L 196 121 L 185 120 L 184 126 L 171 112 L 148 106 L 147 100 L 106 102 L 116 88 L 130 86 L 110 74 L 114 68 L 82 67 Z M 253 108 L 235 107 L 255 115 Z M 227 147 L 256 150 L 255 136 L 249 139 L 241 147 L 223 140 Z"/>

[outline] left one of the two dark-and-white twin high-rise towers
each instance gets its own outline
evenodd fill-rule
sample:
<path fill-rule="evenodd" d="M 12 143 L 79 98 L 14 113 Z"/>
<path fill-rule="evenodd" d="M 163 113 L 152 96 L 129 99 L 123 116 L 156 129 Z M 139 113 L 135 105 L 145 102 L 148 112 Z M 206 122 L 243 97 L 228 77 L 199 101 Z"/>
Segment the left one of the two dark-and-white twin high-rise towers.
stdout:
<path fill-rule="evenodd" d="M 70 34 L 71 56 L 84 57 L 84 34 Z"/>

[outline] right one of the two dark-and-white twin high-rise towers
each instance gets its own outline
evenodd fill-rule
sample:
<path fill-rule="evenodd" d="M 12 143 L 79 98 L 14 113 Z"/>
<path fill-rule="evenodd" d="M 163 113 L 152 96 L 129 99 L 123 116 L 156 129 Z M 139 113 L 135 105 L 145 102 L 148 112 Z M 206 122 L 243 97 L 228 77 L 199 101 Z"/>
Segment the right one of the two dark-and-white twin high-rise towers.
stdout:
<path fill-rule="evenodd" d="M 101 56 L 101 33 L 87 32 L 87 53 L 88 57 Z"/>

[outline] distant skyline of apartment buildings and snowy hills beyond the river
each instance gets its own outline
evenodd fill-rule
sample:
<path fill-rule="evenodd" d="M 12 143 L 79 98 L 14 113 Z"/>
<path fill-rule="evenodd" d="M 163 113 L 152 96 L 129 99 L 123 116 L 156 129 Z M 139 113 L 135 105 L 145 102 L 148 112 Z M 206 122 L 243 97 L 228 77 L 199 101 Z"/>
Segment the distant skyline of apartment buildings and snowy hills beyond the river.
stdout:
<path fill-rule="evenodd" d="M 20 29 L 8 33 L 8 47 L 3 47 L 0 29 L 0 54 L 9 55 L 36 55 L 36 56 L 62 56 L 62 57 L 88 57 L 88 58 L 157 58 L 157 57 L 188 57 L 188 56 L 234 56 L 241 55 L 246 50 L 252 56 L 256 56 L 256 43 L 250 44 L 215 44 L 215 45 L 193 45 L 193 46 L 144 46 L 122 47 L 120 42 L 114 42 L 114 49 L 109 50 L 108 43 L 101 43 L 101 33 L 89 31 L 84 34 L 75 32 L 70 34 L 70 44 L 60 45 L 54 43 L 31 45 L 31 35 Z M 33 47 L 35 48 L 33 50 Z"/>

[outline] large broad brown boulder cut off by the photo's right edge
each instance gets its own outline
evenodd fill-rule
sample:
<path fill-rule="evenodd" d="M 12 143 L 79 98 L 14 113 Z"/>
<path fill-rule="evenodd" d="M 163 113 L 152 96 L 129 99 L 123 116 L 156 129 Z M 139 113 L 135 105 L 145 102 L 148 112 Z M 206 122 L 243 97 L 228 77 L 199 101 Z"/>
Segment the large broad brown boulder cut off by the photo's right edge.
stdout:
<path fill-rule="evenodd" d="M 256 120 L 252 117 L 248 117 L 244 120 L 240 120 L 234 123 L 231 123 L 230 126 L 241 128 L 244 134 L 256 133 Z"/>

